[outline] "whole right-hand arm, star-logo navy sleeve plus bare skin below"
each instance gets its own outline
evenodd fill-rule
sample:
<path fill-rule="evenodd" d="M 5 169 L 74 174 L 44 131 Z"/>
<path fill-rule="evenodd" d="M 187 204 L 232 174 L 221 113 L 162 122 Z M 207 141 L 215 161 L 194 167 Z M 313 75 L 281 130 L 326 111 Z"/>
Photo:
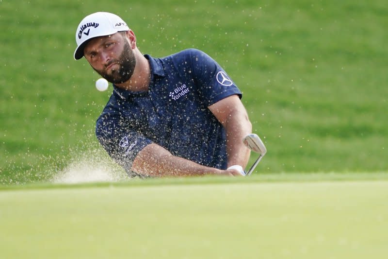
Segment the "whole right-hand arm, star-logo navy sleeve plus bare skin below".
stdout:
<path fill-rule="evenodd" d="M 226 130 L 227 167 L 245 168 L 250 151 L 242 139 L 252 132 L 252 124 L 240 98 L 241 91 L 221 66 L 204 52 L 192 51 L 193 75 L 205 104 Z"/>

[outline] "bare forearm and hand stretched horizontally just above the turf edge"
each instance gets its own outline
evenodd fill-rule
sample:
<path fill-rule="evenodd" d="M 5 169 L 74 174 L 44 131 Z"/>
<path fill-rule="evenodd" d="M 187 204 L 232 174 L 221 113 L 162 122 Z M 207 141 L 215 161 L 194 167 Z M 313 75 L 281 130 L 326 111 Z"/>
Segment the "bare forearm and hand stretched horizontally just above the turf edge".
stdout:
<path fill-rule="evenodd" d="M 132 164 L 132 171 L 148 176 L 241 175 L 237 170 L 219 170 L 174 156 L 152 143 L 143 148 Z"/>

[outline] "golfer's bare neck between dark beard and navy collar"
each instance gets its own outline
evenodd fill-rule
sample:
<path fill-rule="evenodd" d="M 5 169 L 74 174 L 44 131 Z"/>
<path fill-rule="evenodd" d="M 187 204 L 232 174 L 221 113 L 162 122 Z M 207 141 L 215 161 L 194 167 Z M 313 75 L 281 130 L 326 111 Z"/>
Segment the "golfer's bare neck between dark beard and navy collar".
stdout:
<path fill-rule="evenodd" d="M 147 91 L 151 81 L 151 68 L 149 62 L 140 52 L 135 53 L 135 56 L 136 66 L 132 76 L 127 82 L 114 85 L 129 91 Z"/>

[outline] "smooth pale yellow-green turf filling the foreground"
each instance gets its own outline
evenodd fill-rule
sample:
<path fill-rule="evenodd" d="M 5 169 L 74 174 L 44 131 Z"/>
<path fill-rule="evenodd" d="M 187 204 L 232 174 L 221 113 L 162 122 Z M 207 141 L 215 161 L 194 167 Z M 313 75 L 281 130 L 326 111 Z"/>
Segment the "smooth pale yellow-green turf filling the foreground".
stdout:
<path fill-rule="evenodd" d="M 384 258 L 388 181 L 0 192 L 4 258 Z"/>

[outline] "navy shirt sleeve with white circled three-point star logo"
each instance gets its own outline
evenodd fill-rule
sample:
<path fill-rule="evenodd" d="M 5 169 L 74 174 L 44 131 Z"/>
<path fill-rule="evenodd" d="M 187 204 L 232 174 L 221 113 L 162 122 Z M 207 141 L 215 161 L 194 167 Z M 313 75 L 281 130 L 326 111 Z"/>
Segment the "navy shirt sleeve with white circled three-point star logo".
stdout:
<path fill-rule="evenodd" d="M 210 106 L 218 101 L 237 94 L 242 98 L 240 89 L 226 74 L 225 70 L 208 54 L 199 50 L 191 53 L 194 80 L 204 104 Z"/>

